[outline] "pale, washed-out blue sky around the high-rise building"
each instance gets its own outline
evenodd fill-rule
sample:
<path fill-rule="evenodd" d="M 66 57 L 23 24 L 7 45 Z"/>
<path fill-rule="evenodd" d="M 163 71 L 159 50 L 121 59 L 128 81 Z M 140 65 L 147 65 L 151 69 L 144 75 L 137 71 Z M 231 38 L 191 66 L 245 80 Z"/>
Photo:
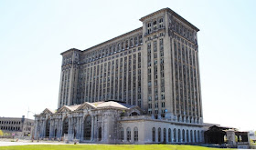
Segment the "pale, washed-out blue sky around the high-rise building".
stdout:
<path fill-rule="evenodd" d="M 57 108 L 61 52 L 97 45 L 169 7 L 196 25 L 204 121 L 256 130 L 256 1 L 0 1 L 0 116 Z M 29 114 L 32 117 L 32 114 Z"/>

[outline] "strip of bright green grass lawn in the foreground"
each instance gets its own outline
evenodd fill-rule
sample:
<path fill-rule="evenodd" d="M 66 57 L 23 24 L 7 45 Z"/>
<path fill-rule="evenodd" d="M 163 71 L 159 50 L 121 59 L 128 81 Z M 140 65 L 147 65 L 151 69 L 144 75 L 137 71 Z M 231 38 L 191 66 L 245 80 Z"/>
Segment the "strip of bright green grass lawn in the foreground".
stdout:
<path fill-rule="evenodd" d="M 1 150 L 66 150 L 66 149 L 85 149 L 85 150 L 223 150 L 223 148 L 208 148 L 197 145 L 14 145 L 0 146 Z M 228 149 L 226 149 L 228 150 Z"/>

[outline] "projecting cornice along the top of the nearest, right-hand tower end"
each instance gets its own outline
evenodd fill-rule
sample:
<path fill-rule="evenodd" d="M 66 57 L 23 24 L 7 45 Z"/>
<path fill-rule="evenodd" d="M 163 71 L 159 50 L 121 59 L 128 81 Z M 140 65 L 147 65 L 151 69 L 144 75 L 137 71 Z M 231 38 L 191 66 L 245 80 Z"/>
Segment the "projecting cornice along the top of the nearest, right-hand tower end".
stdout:
<path fill-rule="evenodd" d="M 176 14 L 175 11 L 173 11 L 172 9 L 170 8 L 163 8 L 163 9 L 160 9 L 150 15 L 145 15 L 144 17 L 142 17 L 140 19 L 140 21 L 144 22 L 145 19 L 149 18 L 149 17 L 152 17 L 154 15 L 158 15 L 158 14 L 161 14 L 161 13 L 164 13 L 164 12 L 168 12 L 168 13 L 171 13 L 172 15 L 176 16 L 178 19 L 180 19 L 182 22 L 186 23 L 187 25 L 191 26 L 193 29 L 195 29 L 197 32 L 199 31 L 199 29 L 197 28 L 197 26 L 195 25 L 192 25 L 191 23 L 189 23 L 185 18 L 183 18 L 182 16 Z"/>

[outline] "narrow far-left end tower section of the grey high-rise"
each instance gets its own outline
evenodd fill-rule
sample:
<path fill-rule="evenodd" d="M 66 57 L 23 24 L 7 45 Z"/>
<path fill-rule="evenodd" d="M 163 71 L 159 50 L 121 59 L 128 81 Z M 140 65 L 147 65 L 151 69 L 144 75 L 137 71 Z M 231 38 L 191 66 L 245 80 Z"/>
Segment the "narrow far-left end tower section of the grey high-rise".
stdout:
<path fill-rule="evenodd" d="M 58 108 L 63 105 L 74 105 L 74 100 L 77 99 L 80 50 L 72 48 L 60 55 L 62 55 L 62 65 Z"/>

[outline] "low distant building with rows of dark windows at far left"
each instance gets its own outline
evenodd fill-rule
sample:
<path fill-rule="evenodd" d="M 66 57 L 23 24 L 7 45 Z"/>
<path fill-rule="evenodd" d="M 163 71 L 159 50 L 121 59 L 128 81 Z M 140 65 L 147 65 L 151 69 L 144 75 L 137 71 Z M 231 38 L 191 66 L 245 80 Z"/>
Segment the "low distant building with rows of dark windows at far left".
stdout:
<path fill-rule="evenodd" d="M 31 137 L 34 131 L 34 120 L 22 117 L 0 117 L 0 130 L 16 137 Z"/>

